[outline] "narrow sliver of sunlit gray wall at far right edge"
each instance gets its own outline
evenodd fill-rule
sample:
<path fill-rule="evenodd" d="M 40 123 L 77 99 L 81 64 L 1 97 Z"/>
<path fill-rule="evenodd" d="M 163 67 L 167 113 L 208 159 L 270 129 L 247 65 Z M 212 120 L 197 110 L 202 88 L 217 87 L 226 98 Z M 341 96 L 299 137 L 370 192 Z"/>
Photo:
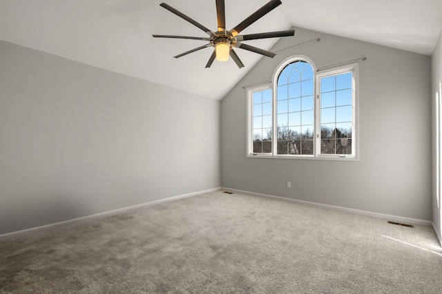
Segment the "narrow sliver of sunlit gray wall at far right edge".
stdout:
<path fill-rule="evenodd" d="M 432 125 L 433 125 L 433 222 L 434 227 L 436 229 L 436 233 L 439 237 L 439 242 L 442 243 L 442 228 L 441 228 L 441 206 L 442 204 L 437 203 L 437 198 L 441 197 L 441 195 L 437 195 L 436 193 L 436 185 L 438 183 L 438 179 L 436 179 L 436 95 L 439 96 L 439 99 L 442 96 L 442 32 L 439 36 L 439 41 L 436 44 L 436 48 L 434 48 L 434 52 L 432 54 Z M 442 118 L 441 118 L 442 119 Z M 439 178 L 439 181 L 441 178 Z M 439 192 L 440 193 L 440 192 Z"/>

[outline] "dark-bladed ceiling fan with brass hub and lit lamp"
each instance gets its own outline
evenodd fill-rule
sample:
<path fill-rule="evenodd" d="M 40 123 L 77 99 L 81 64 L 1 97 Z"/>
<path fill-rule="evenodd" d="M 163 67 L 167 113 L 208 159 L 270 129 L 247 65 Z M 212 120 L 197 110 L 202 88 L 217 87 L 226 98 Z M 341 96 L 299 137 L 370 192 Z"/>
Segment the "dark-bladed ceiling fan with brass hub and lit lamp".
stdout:
<path fill-rule="evenodd" d="M 244 19 L 242 23 L 239 25 L 236 25 L 235 28 L 231 30 L 226 30 L 226 17 L 224 13 L 224 0 L 215 0 L 216 3 L 216 14 L 218 19 L 218 31 L 213 32 L 209 30 L 208 28 L 204 27 L 204 25 L 198 23 L 197 21 L 191 19 L 190 17 L 186 16 L 182 12 L 179 12 L 175 8 L 172 8 L 171 6 L 167 5 L 166 3 L 161 3 L 160 6 L 163 8 L 166 8 L 166 10 L 169 10 L 170 12 L 173 12 L 178 17 L 181 17 L 182 19 L 185 19 L 186 21 L 189 21 L 189 23 L 192 23 L 196 27 L 200 28 L 206 34 L 209 34 L 209 37 L 199 37 L 199 36 L 171 36 L 171 35 L 164 35 L 164 34 L 153 34 L 152 36 L 155 38 L 173 38 L 173 39 L 193 39 L 193 40 L 201 40 L 201 41 L 209 41 L 208 44 L 202 45 L 201 47 L 186 51 L 182 54 L 178 54 L 177 56 L 174 56 L 175 58 L 180 58 L 181 56 L 184 56 L 186 54 L 202 50 L 204 48 L 214 47 L 215 50 L 213 50 L 212 55 L 210 56 L 209 61 L 206 64 L 206 67 L 210 67 L 215 60 L 215 58 L 218 61 L 227 61 L 229 59 L 229 56 L 235 61 L 236 65 L 238 67 L 244 67 L 244 64 L 240 61 L 238 55 L 233 51 L 233 48 L 241 48 L 244 50 L 248 50 L 251 52 L 255 52 L 258 54 L 262 54 L 264 56 L 269 56 L 273 58 L 273 56 L 276 55 L 276 53 L 263 50 L 260 48 L 253 47 L 251 45 L 247 45 L 242 43 L 242 41 L 248 41 L 248 40 L 256 40 L 256 39 L 267 39 L 267 38 L 276 38 L 280 36 L 294 36 L 295 30 L 282 30 L 278 32 L 262 32 L 259 34 L 243 34 L 240 35 L 239 33 L 247 28 L 249 25 L 254 23 L 255 21 L 258 21 L 261 17 L 265 16 L 265 14 L 269 13 L 271 10 L 282 4 L 280 0 L 271 0 L 265 6 L 262 6 L 262 8 L 256 10 L 253 14 L 251 14 L 247 19 Z"/>

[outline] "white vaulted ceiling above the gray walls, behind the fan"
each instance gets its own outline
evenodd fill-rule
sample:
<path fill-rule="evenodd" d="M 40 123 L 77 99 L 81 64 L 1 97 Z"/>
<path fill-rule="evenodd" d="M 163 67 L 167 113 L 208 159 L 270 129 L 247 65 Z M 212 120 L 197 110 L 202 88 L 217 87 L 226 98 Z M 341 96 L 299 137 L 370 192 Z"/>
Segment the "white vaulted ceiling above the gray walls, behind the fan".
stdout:
<path fill-rule="evenodd" d="M 201 96 L 223 98 L 261 56 L 237 49 L 245 65 L 242 69 L 231 60 L 204 68 L 211 48 L 174 59 L 204 41 L 160 39 L 152 34 L 207 35 L 160 7 L 163 1 L 216 30 L 215 0 L 0 0 L 0 39 Z M 227 29 L 267 1 L 225 0 Z M 281 6 L 241 34 L 291 26 L 431 55 L 442 30 L 442 0 L 282 0 Z M 276 41 L 250 44 L 269 49 Z"/>

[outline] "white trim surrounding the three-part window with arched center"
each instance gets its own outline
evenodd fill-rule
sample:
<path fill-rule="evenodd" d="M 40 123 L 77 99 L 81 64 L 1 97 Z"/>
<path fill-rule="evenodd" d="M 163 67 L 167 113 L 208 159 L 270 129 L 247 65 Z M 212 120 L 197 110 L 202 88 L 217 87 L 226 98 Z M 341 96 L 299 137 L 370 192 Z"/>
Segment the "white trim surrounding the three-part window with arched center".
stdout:
<path fill-rule="evenodd" d="M 251 137 L 251 125 L 253 120 L 253 114 L 252 112 L 252 96 L 253 92 L 260 92 L 263 90 L 271 89 L 272 94 L 272 124 L 273 127 L 276 125 L 276 118 L 277 118 L 277 109 L 274 105 L 276 101 L 276 87 L 278 85 L 278 76 L 281 70 L 288 65 L 291 62 L 297 61 L 297 60 L 305 60 L 307 61 L 311 67 L 313 67 L 314 70 L 314 99 L 315 99 L 315 106 L 314 106 L 314 116 L 315 116 L 315 149 L 314 149 L 314 155 L 286 155 L 286 154 L 277 154 L 276 148 L 274 148 L 277 144 L 278 138 L 276 136 L 273 136 L 272 138 L 272 153 L 267 154 L 253 154 L 253 138 Z M 308 56 L 305 55 L 295 55 L 291 56 L 288 59 L 285 59 L 285 61 L 282 61 L 278 67 L 276 67 L 275 72 L 273 72 L 273 78 L 271 80 L 271 83 L 263 83 L 260 85 L 253 85 L 250 87 L 246 87 L 247 91 L 247 158 L 274 158 L 274 159 L 302 159 L 302 160 L 338 160 L 338 161 L 359 161 L 359 71 L 358 71 L 358 65 L 359 63 L 350 63 L 347 65 L 342 65 L 340 67 L 334 67 L 330 68 L 328 70 L 322 70 L 320 72 L 317 71 L 316 64 L 313 60 L 311 60 Z M 352 150 L 354 151 L 354 155 L 343 155 L 343 154 L 319 154 L 318 148 L 320 148 L 319 143 L 319 132 L 320 132 L 320 105 L 319 105 L 319 78 L 322 76 L 332 75 L 332 74 L 339 74 L 340 72 L 353 72 L 353 87 L 354 87 L 354 97 L 353 97 L 353 127 L 352 127 Z"/>

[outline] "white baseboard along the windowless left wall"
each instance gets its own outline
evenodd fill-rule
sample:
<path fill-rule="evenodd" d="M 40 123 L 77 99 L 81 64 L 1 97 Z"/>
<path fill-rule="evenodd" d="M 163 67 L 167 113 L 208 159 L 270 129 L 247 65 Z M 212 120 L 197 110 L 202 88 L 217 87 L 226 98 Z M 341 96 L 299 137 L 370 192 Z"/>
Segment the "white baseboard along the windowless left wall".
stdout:
<path fill-rule="evenodd" d="M 30 229 L 24 229 L 24 230 L 14 231 L 14 232 L 10 232 L 10 233 L 3 233 L 3 234 L 0 234 L 0 241 L 5 240 L 5 239 L 16 238 L 16 237 L 19 237 L 19 235 L 22 235 L 24 233 L 28 233 L 30 231 L 37 231 L 37 230 L 41 230 L 41 229 L 49 229 L 49 228 L 66 226 L 66 224 L 75 224 L 76 222 L 83 222 L 84 220 L 90 220 L 92 218 L 97 218 L 99 216 L 106 216 L 108 214 L 118 213 L 118 212 L 122 212 L 122 211 L 128 211 L 131 209 L 136 209 L 138 207 L 145 207 L 145 206 L 152 205 L 152 204 L 157 204 L 157 203 L 168 202 L 168 201 L 177 200 L 177 199 L 181 199 L 181 198 L 188 198 L 188 197 L 192 197 L 192 196 L 197 196 L 197 195 L 204 194 L 204 193 L 218 191 L 220 189 L 221 189 L 220 187 L 217 187 L 217 188 L 206 189 L 206 190 L 192 192 L 192 193 L 186 193 L 186 194 L 182 194 L 179 196 L 172 196 L 172 197 L 164 198 L 164 199 L 160 199 L 160 200 L 153 200 L 153 201 L 144 202 L 141 204 L 135 204 L 135 205 L 131 205 L 129 207 L 123 207 L 123 208 L 119 208 L 119 209 L 113 209 L 110 211 L 94 213 L 89 216 L 81 216 L 80 218 L 73 218 L 71 220 L 64 220 L 62 222 L 55 222 L 53 224 L 45 224 L 44 226 L 33 227 Z"/>

